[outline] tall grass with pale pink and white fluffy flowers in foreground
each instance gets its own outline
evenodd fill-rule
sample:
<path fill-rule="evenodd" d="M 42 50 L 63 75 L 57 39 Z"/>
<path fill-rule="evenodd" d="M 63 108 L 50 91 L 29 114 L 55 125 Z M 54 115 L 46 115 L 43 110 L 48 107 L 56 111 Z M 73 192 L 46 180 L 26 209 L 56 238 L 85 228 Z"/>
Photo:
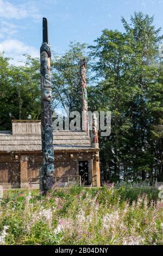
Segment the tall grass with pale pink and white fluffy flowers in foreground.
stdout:
<path fill-rule="evenodd" d="M 162 245 L 158 191 L 130 186 L 9 191 L 0 205 L 6 245 Z"/>

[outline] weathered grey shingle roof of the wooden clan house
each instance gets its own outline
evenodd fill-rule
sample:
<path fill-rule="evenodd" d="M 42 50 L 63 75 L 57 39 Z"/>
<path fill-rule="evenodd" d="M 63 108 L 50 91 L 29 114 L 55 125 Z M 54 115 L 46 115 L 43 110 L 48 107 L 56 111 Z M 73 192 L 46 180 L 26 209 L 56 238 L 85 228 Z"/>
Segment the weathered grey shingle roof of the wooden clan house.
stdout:
<path fill-rule="evenodd" d="M 53 131 L 53 145 L 55 151 L 95 150 L 82 131 Z M 40 120 L 12 120 L 12 131 L 0 131 L 0 153 L 12 151 L 41 151 Z"/>

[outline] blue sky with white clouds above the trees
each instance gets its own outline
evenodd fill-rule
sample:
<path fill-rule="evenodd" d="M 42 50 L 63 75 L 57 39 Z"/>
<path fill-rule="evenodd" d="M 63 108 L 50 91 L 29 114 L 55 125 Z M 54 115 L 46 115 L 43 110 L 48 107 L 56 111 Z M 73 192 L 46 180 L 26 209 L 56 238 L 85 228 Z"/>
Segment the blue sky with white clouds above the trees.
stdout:
<path fill-rule="evenodd" d="M 162 10 L 163 0 L 0 0 L 0 51 L 14 64 L 23 53 L 39 57 L 42 17 L 52 50 L 61 54 L 70 41 L 93 44 L 104 28 L 123 31 L 121 16 L 129 21 L 134 11 L 154 15 L 156 28 L 163 28 Z"/>

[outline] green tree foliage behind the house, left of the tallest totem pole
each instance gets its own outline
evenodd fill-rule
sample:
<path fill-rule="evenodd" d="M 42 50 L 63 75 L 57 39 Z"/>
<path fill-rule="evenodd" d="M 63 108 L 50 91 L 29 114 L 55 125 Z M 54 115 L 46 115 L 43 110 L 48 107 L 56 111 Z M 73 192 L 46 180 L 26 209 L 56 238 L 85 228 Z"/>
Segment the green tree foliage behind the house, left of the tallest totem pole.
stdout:
<path fill-rule="evenodd" d="M 39 119 L 40 74 L 39 60 L 27 56 L 23 66 L 9 65 L 7 58 L 0 58 L 0 128 L 11 129 L 12 119 Z"/>

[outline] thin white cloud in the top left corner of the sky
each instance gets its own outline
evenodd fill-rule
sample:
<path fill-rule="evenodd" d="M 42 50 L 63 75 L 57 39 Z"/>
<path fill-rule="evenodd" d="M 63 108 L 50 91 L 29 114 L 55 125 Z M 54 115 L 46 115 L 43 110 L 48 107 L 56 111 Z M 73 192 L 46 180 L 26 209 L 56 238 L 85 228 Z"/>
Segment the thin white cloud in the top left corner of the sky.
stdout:
<path fill-rule="evenodd" d="M 0 17 L 6 19 L 25 19 L 32 17 L 40 19 L 38 9 L 33 1 L 28 1 L 25 4 L 14 5 L 9 1 L 0 0 Z"/>

